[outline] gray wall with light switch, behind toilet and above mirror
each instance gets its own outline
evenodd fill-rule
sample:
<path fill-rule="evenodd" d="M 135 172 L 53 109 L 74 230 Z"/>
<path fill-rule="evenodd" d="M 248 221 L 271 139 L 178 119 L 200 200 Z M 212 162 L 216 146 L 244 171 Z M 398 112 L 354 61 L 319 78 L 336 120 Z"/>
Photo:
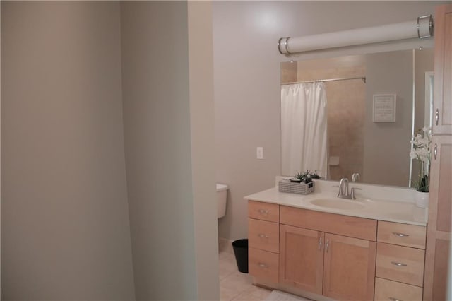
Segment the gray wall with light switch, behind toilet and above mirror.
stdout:
<path fill-rule="evenodd" d="M 227 213 L 218 223 L 220 237 L 246 237 L 243 197 L 272 187 L 275 175 L 280 174 L 280 62 L 420 46 L 420 42 L 400 42 L 285 57 L 276 47 L 278 39 L 415 20 L 434 13 L 437 4 L 213 2 L 216 179 L 230 185 Z M 256 160 L 256 146 L 264 147 L 263 160 Z"/>

